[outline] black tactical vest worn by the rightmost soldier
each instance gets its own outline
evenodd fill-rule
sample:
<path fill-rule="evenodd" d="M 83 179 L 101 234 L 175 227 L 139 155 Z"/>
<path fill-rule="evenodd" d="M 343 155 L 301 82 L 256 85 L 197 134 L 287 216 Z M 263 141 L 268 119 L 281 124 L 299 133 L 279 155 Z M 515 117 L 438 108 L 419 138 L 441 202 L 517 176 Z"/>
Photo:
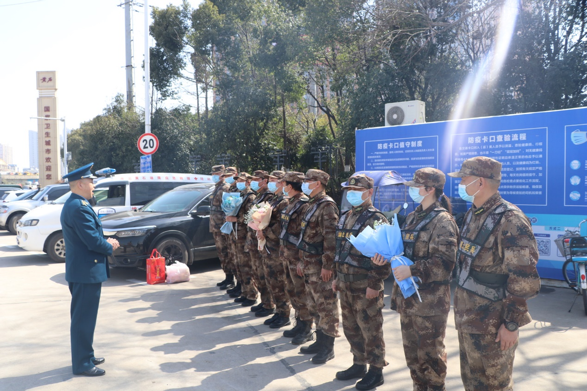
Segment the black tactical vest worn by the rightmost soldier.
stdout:
<path fill-rule="evenodd" d="M 477 233 L 474 239 L 467 238 L 468 232 L 463 232 L 457 250 L 457 270 L 458 286 L 477 296 L 484 297 L 491 301 L 500 301 L 505 297 L 505 283 L 507 283 L 508 275 L 500 275 L 497 273 L 482 273 L 471 269 L 475 258 L 485 245 L 485 242 L 490 238 L 504 212 L 508 210 L 516 210 L 510 203 L 501 203 L 498 205 L 483 222 L 483 226 Z M 473 217 L 473 210 L 467 212 L 464 227 L 468 227 Z"/>

